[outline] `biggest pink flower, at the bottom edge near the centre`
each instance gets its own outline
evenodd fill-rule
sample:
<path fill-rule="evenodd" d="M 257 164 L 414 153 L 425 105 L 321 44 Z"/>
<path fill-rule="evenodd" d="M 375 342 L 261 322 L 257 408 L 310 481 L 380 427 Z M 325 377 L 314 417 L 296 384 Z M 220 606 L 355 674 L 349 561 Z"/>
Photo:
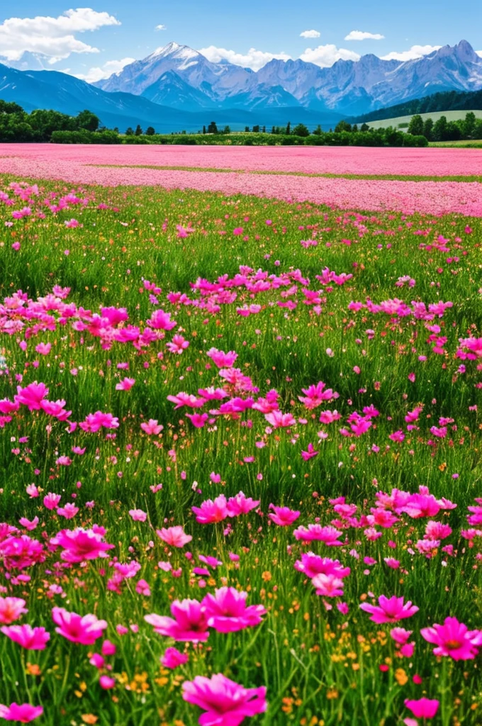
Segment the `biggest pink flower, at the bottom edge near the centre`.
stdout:
<path fill-rule="evenodd" d="M 246 717 L 266 711 L 266 688 L 244 688 L 221 673 L 211 678 L 196 676 L 182 684 L 182 697 L 205 713 L 202 726 L 239 726 Z"/>

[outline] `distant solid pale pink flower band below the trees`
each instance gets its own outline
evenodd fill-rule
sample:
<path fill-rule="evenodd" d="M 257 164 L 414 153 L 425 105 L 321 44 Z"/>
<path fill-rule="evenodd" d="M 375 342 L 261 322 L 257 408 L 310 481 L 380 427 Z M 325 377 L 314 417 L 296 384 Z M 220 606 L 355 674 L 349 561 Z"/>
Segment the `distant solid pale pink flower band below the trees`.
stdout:
<path fill-rule="evenodd" d="M 361 211 L 482 216 L 481 170 L 482 150 L 473 149 L 0 144 L 0 174 L 16 179 L 155 184 Z"/>

